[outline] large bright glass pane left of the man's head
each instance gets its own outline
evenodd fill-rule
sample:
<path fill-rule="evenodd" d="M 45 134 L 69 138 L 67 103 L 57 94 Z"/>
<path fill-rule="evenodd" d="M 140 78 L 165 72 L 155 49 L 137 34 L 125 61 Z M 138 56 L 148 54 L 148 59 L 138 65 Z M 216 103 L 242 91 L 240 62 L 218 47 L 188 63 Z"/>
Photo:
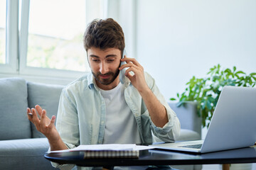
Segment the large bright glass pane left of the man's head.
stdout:
<path fill-rule="evenodd" d="M 26 66 L 85 72 L 85 1 L 31 0 L 29 9 Z"/>

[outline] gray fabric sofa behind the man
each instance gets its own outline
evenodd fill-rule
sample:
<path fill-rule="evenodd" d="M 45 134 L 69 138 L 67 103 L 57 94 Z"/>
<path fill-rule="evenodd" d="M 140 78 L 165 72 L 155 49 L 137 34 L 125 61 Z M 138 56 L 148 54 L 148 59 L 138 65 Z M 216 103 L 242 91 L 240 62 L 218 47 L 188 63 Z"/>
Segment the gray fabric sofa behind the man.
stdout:
<path fill-rule="evenodd" d="M 48 140 L 31 124 L 26 108 L 36 104 L 46 109 L 51 118 L 56 115 L 63 86 L 38 84 L 21 78 L 0 79 L 0 169 L 54 169 L 43 157 Z M 181 121 L 178 140 L 201 139 L 201 120 L 195 103 L 176 108 L 169 103 Z M 186 166 L 182 169 L 198 169 Z M 201 168 L 199 168 L 201 169 Z"/>

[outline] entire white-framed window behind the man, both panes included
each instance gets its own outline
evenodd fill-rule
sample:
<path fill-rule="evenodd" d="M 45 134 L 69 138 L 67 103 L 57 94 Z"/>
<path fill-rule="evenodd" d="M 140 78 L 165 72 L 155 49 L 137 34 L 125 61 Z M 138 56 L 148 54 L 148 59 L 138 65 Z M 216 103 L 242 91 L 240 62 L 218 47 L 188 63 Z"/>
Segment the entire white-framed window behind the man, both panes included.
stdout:
<path fill-rule="evenodd" d="M 63 83 L 90 72 L 85 28 L 92 19 L 115 18 L 110 13 L 118 9 L 105 0 L 0 0 L 0 77 Z"/>

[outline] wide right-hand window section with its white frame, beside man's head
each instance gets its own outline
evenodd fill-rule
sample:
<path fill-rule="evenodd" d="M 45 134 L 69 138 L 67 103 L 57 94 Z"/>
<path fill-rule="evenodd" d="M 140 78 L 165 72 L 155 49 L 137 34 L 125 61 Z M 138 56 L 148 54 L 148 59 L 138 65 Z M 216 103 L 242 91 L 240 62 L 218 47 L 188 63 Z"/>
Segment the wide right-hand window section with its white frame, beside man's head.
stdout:
<path fill-rule="evenodd" d="M 88 18 L 101 18 L 91 4 L 102 11 L 102 0 L 22 0 L 18 72 L 68 79 L 89 72 L 82 38 Z"/>

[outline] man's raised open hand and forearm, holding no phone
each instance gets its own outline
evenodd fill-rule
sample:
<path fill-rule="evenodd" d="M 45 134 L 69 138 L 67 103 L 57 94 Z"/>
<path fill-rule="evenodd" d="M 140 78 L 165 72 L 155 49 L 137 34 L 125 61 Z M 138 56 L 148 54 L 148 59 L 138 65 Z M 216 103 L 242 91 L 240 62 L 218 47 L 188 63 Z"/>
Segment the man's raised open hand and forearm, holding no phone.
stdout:
<path fill-rule="evenodd" d="M 50 150 L 68 149 L 55 128 L 55 115 L 50 119 L 46 115 L 46 110 L 42 109 L 39 105 L 36 105 L 35 108 L 27 108 L 28 120 L 36 126 L 39 132 L 48 138 Z"/>

